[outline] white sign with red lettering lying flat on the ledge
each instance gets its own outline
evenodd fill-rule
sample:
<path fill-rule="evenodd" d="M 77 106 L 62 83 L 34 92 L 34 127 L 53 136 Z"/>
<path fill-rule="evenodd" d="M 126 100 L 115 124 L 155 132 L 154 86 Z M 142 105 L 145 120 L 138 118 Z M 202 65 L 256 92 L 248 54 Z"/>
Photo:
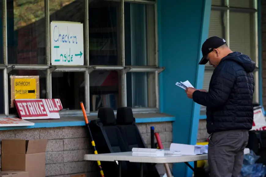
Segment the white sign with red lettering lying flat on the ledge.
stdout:
<path fill-rule="evenodd" d="M 0 118 L 0 127 L 13 127 L 13 126 L 32 126 L 33 122 L 25 121 L 18 118 Z"/>

